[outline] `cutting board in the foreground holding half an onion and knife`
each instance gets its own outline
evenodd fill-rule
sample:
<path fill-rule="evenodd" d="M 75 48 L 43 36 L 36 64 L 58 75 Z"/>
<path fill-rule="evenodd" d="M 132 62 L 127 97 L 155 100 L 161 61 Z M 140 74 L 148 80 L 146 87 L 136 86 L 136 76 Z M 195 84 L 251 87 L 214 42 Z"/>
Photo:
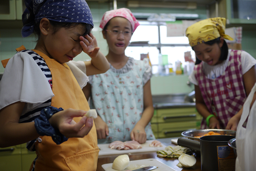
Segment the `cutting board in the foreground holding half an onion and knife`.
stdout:
<path fill-rule="evenodd" d="M 104 164 L 102 165 L 102 168 L 105 171 L 117 171 L 115 169 L 112 169 L 112 164 L 113 163 Z M 127 168 L 125 168 L 124 171 L 126 170 L 132 171 L 132 170 L 139 169 L 141 167 L 146 167 L 146 166 L 158 166 L 157 169 L 154 169 L 152 171 L 176 171 L 156 159 L 143 159 L 143 160 L 137 160 L 137 161 L 130 161 L 130 165 Z"/>

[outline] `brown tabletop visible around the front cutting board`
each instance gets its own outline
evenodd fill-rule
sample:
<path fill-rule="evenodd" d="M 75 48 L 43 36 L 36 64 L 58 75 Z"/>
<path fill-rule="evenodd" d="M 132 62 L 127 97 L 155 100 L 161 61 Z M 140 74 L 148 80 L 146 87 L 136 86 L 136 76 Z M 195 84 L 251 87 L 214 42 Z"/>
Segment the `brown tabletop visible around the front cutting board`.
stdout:
<path fill-rule="evenodd" d="M 159 140 L 161 143 L 163 143 L 166 146 L 168 146 L 168 145 L 176 146 L 175 144 L 171 143 L 171 139 L 177 139 L 177 138 L 164 138 L 164 139 L 157 139 L 157 140 Z M 200 158 L 200 156 L 195 156 L 196 159 L 197 159 L 197 163 L 196 163 L 195 166 L 193 166 L 191 168 L 186 168 L 186 167 L 181 168 L 181 167 L 176 166 L 179 163 L 178 158 L 160 157 L 160 156 L 157 156 L 156 151 L 129 153 L 129 150 L 127 150 L 126 154 L 129 156 L 130 161 L 154 158 L 154 159 L 164 163 L 165 165 L 170 166 L 172 169 L 174 169 L 176 171 L 201 171 L 201 158 Z M 118 155 L 120 155 L 120 154 L 99 156 L 96 171 L 105 171 L 101 166 L 103 164 L 113 163 L 113 161 L 115 160 L 115 158 Z"/>

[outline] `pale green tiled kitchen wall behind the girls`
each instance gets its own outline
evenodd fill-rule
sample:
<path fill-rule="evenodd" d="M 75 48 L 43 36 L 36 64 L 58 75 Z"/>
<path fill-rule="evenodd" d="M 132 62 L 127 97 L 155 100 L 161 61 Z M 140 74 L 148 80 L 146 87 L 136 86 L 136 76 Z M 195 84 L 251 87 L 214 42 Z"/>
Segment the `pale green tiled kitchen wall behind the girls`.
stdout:
<path fill-rule="evenodd" d="M 99 28 L 101 17 L 104 12 L 112 9 L 109 3 L 88 2 L 94 20 L 94 29 L 92 33 L 96 36 L 98 46 L 101 52 L 107 55 L 108 47 L 107 42 L 103 39 L 101 29 Z M 118 3 L 117 8 L 126 7 L 125 3 Z M 196 13 L 201 19 L 207 18 L 207 9 L 198 6 L 197 10 L 185 9 L 170 9 L 170 8 L 130 8 L 132 12 L 145 12 L 145 13 Z M 253 57 L 256 57 L 256 31 L 243 31 L 242 47 L 245 51 L 249 52 Z M 27 49 L 33 49 L 36 45 L 36 40 L 33 36 L 21 38 L 21 29 L 0 29 L 0 60 L 11 58 L 15 53 L 15 49 L 24 45 Z M 89 60 L 84 52 L 75 57 L 75 61 Z M 4 68 L 0 65 L 0 73 L 4 72 Z M 192 87 L 187 86 L 186 75 L 180 76 L 167 76 L 167 77 L 153 77 L 151 79 L 151 90 L 153 95 L 158 94 L 171 94 L 171 93 L 189 93 Z"/>

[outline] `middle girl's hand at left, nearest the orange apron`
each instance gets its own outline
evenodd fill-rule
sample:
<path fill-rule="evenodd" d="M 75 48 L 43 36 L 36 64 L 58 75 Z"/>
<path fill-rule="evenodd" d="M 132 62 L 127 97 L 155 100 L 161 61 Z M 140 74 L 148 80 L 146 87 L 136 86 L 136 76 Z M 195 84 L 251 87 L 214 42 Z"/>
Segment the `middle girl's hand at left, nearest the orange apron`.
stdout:
<path fill-rule="evenodd" d="M 98 139 L 106 139 L 109 133 L 108 126 L 101 117 L 97 117 L 94 119 L 96 131 L 97 131 L 97 138 Z"/>

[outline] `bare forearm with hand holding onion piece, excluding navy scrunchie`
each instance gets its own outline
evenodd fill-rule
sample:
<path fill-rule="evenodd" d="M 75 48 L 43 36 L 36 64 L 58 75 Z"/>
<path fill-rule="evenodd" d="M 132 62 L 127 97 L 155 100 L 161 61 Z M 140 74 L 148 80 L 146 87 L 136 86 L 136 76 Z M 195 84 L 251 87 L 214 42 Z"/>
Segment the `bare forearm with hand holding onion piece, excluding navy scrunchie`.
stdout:
<path fill-rule="evenodd" d="M 20 145 L 38 138 L 34 122 L 19 123 L 21 112 L 25 106 L 24 102 L 10 104 L 0 110 L 0 147 L 9 147 Z M 66 109 L 60 111 L 49 119 L 53 127 L 59 129 L 67 138 L 84 137 L 92 126 L 93 119 L 86 118 L 86 111 Z M 78 123 L 73 120 L 74 117 L 82 117 Z"/>

